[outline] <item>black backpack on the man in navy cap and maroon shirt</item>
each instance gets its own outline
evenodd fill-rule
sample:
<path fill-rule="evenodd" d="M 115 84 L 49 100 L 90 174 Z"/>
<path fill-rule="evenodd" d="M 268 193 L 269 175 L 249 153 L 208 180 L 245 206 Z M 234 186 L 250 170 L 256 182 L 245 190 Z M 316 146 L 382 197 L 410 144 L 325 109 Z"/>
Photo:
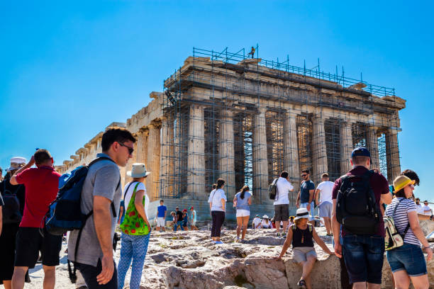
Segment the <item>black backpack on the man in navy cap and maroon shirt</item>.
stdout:
<path fill-rule="evenodd" d="M 336 200 L 336 218 L 352 234 L 375 234 L 381 212 L 375 201 L 370 179 L 374 171 L 362 176 L 341 176 Z"/>

